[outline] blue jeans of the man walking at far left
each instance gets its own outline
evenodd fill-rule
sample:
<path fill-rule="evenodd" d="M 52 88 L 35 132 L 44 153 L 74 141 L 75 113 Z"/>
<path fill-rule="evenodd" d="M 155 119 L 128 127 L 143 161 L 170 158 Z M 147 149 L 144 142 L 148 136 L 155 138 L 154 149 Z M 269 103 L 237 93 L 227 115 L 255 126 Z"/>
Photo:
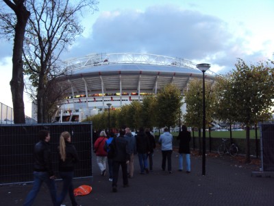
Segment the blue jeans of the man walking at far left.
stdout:
<path fill-rule="evenodd" d="M 43 182 L 45 182 L 49 188 L 49 193 L 51 194 L 51 201 L 53 205 L 57 205 L 55 181 L 53 179 L 49 179 L 49 174 L 47 172 L 34 171 L 34 185 L 32 190 L 29 191 L 29 194 L 27 194 L 27 198 L 25 198 L 24 206 L 29 206 L 34 203 L 34 199 L 36 198 L 36 195 L 38 194 Z"/>

